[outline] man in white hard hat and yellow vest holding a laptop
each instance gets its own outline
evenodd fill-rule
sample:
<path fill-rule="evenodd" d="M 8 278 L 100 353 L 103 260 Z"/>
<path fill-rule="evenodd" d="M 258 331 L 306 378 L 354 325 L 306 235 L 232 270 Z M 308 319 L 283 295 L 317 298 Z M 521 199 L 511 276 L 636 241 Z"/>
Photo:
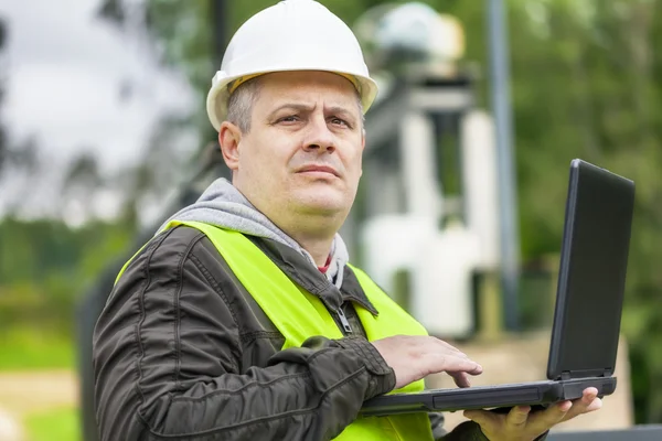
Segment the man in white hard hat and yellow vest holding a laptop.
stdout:
<path fill-rule="evenodd" d="M 232 184 L 214 182 L 122 269 L 94 335 L 103 440 L 534 440 L 600 407 L 528 415 L 361 418 L 362 402 L 459 387 L 482 368 L 425 330 L 361 270 L 338 235 L 354 201 L 376 95 L 361 49 L 312 0 L 235 34 L 209 94 Z"/>

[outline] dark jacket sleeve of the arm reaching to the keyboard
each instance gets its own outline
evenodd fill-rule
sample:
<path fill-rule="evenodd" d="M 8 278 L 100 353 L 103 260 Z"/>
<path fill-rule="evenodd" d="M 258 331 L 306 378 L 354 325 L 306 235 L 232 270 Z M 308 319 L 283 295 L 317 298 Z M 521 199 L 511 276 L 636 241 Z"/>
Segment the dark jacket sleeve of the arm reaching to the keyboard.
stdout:
<path fill-rule="evenodd" d="M 157 237 L 119 279 L 94 334 L 106 440 L 329 440 L 395 386 L 364 338 L 311 337 L 242 366 L 233 302 L 189 251 Z"/>

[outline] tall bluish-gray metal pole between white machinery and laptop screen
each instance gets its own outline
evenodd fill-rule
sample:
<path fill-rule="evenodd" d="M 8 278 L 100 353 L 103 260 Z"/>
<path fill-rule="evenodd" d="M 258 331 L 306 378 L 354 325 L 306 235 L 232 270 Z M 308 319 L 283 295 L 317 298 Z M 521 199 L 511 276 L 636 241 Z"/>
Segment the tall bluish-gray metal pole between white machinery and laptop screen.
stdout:
<path fill-rule="evenodd" d="M 516 182 L 513 170 L 512 109 L 510 105 L 510 72 L 508 23 L 503 0 L 488 2 L 488 44 L 490 49 L 490 74 L 492 111 L 496 133 L 496 163 L 499 168 L 501 284 L 505 327 L 519 327 L 517 286 L 520 237 L 516 216 Z"/>

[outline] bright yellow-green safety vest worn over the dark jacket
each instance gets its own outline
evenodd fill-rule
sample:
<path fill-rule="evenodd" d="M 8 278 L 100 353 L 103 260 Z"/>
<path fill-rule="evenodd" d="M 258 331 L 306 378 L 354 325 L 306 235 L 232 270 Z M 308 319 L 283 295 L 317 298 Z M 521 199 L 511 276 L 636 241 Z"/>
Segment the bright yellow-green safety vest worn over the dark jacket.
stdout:
<path fill-rule="evenodd" d="M 243 234 L 199 222 L 173 220 L 166 228 L 186 225 L 204 233 L 223 256 L 244 288 L 285 337 L 282 348 L 298 347 L 310 336 L 342 338 L 340 329 L 324 304 L 292 282 L 263 251 Z M 373 315 L 354 304 L 369 341 L 392 335 L 427 335 L 420 323 L 406 313 L 363 271 L 352 267 L 371 303 L 380 312 Z M 412 383 L 393 392 L 420 391 L 424 381 Z M 335 440 L 433 440 L 425 412 L 391 417 L 357 418 Z"/>

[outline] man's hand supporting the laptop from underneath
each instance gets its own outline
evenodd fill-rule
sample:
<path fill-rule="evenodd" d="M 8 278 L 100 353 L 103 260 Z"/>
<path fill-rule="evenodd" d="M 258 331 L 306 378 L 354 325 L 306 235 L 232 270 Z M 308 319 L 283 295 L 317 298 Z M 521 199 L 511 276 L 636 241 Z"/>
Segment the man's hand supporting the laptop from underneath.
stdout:
<path fill-rule="evenodd" d="M 530 406 L 515 406 L 508 413 L 493 410 L 465 410 L 465 417 L 476 421 L 490 441 L 532 441 L 560 422 L 601 407 L 602 401 L 598 398 L 598 390 L 588 387 L 581 398 L 560 401 L 545 410 L 531 411 Z"/>

